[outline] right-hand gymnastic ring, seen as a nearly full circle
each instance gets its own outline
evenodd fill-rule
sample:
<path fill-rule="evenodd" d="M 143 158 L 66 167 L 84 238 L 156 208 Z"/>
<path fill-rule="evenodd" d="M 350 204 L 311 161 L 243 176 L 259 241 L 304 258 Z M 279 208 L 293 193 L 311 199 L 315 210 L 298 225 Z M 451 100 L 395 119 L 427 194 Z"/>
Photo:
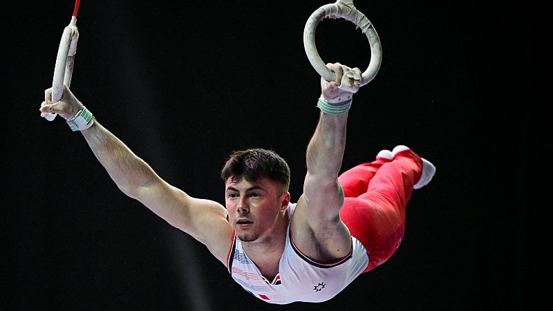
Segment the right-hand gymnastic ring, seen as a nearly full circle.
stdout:
<path fill-rule="evenodd" d="M 368 82 L 371 82 L 380 68 L 380 64 L 382 63 L 382 47 L 380 46 L 380 39 L 378 38 L 373 23 L 353 6 L 353 0 L 338 0 L 335 3 L 328 3 L 311 14 L 306 23 L 306 27 L 303 29 L 303 46 L 306 49 L 307 57 L 311 66 L 313 66 L 317 73 L 319 73 L 321 77 L 324 77 L 326 81 L 336 80 L 335 73 L 326 66 L 317 52 L 317 46 L 315 45 L 315 30 L 321 20 L 325 18 L 336 19 L 337 17 L 351 21 L 355 23 L 355 26 L 361 28 L 361 31 L 368 39 L 368 44 L 371 46 L 371 62 L 368 64 L 364 73 L 362 73 L 361 82 L 359 84 L 359 86 L 364 86 L 368 84 Z"/>

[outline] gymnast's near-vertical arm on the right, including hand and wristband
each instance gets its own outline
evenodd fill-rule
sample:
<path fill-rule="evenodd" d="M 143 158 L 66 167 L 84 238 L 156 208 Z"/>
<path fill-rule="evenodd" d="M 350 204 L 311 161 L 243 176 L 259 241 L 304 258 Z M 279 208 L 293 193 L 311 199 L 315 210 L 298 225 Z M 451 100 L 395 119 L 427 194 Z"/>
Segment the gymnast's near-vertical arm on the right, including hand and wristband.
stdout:
<path fill-rule="evenodd" d="M 361 76 L 358 68 L 338 63 L 327 66 L 336 73 L 338 83 L 321 79 L 321 113 L 308 144 L 303 196 L 292 220 L 294 242 L 302 252 L 319 261 L 343 258 L 350 249 L 348 229 L 339 218 L 344 191 L 338 175 L 346 147 L 346 124 L 353 94 L 339 88 L 339 83 L 355 88 L 359 80 L 353 79 L 351 72 Z M 343 75 L 347 76 L 341 82 Z"/>

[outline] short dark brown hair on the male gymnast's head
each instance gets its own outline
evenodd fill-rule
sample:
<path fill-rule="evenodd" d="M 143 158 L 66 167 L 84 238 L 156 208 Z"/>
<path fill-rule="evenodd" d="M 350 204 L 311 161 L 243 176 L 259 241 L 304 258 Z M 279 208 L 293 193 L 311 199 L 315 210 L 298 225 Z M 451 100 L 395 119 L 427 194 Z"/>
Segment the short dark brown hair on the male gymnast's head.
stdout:
<path fill-rule="evenodd" d="M 248 181 L 269 178 L 282 182 L 285 191 L 290 187 L 290 167 L 276 152 L 268 149 L 254 148 L 234 151 L 221 170 L 221 179 L 244 177 Z"/>

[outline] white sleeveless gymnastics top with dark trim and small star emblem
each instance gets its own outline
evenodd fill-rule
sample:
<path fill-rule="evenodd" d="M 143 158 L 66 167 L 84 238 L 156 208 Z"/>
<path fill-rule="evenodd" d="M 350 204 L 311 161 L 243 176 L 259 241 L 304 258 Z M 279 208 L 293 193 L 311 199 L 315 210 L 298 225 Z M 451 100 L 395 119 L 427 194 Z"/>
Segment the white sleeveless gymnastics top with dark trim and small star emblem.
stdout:
<path fill-rule="evenodd" d="M 288 219 L 292 220 L 295 208 L 295 203 L 288 205 Z M 345 258 L 330 264 L 310 260 L 294 245 L 290 234 L 290 220 L 284 252 L 279 262 L 279 273 L 273 280 L 261 275 L 255 263 L 245 254 L 236 233 L 234 234 L 227 267 L 232 279 L 250 294 L 268 303 L 277 304 L 327 301 L 344 290 L 366 269 L 366 249 L 353 236 L 353 247 Z"/>

